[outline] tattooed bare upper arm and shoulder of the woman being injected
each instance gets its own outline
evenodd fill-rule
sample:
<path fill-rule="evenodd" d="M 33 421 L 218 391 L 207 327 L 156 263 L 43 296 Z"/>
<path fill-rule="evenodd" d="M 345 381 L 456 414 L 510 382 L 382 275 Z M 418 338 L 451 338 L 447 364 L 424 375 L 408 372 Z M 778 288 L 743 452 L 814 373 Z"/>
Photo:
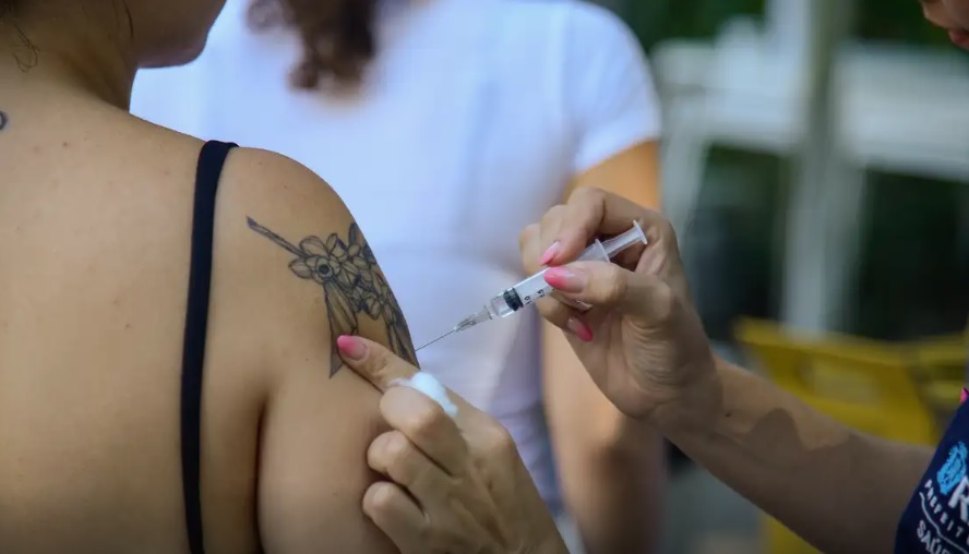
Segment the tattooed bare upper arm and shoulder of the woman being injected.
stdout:
<path fill-rule="evenodd" d="M 379 395 L 343 368 L 334 342 L 359 335 L 414 360 L 410 337 L 362 232 L 302 166 L 241 150 L 227 178 L 242 196 L 219 214 L 250 253 L 247 323 L 268 373 L 261 418 L 258 517 L 267 554 L 392 553 L 361 511 L 375 474 L 366 453 L 383 431 Z M 225 198 L 224 198 L 225 200 Z"/>

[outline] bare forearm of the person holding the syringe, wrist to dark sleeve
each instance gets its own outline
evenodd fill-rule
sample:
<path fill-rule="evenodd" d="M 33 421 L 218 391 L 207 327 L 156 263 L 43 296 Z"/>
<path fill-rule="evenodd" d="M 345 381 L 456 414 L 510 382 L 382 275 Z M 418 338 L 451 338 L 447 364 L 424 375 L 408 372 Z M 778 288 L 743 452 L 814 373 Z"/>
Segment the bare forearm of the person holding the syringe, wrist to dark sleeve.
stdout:
<path fill-rule="evenodd" d="M 727 363 L 657 414 L 663 434 L 825 552 L 890 552 L 932 453 L 854 432 Z"/>

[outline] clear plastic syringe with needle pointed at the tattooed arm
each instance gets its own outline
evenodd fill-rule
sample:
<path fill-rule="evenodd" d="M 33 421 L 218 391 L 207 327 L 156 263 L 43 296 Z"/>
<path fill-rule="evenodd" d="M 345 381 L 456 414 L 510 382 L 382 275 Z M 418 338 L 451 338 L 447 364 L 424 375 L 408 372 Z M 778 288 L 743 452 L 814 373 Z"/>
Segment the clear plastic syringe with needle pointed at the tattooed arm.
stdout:
<path fill-rule="evenodd" d="M 647 243 L 646 233 L 643 232 L 643 229 L 637 221 L 633 221 L 633 227 L 626 232 L 605 241 L 596 240 L 589 244 L 589 246 L 586 248 L 575 261 L 608 262 L 623 250 L 638 243 Z M 545 280 L 545 273 L 547 270 L 548 268 L 542 269 L 531 277 L 518 282 L 514 287 L 499 292 L 484 304 L 484 308 L 459 321 L 454 328 L 434 340 L 424 344 L 417 350 L 427 348 L 455 333 L 467 330 L 479 323 L 484 323 L 499 317 L 507 317 L 526 305 L 533 304 L 535 301 L 547 297 L 552 292 L 552 287 Z"/>

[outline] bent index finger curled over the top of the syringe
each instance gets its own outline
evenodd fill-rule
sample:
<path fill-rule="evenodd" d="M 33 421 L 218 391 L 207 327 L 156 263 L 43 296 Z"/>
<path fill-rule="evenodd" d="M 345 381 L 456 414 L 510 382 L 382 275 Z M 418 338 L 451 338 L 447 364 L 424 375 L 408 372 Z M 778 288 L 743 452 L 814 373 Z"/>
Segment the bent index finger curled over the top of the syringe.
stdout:
<path fill-rule="evenodd" d="M 576 189 L 569 197 L 561 217 L 550 221 L 548 229 L 541 230 L 542 237 L 547 237 L 549 242 L 542 244 L 542 248 L 559 242 L 558 251 L 549 264 L 561 265 L 574 261 L 594 239 L 625 232 L 633 220 L 638 221 L 654 246 L 668 243 L 673 237 L 669 221 L 656 210 L 600 189 Z"/>

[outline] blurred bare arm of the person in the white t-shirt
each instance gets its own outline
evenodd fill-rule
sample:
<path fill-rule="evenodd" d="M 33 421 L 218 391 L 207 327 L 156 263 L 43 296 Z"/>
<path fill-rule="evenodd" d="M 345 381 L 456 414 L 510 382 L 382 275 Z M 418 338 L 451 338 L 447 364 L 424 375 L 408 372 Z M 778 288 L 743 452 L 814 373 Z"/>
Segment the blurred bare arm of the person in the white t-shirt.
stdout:
<path fill-rule="evenodd" d="M 655 206 L 657 174 L 657 145 L 648 142 L 593 167 L 574 186 L 598 186 Z M 623 416 L 602 395 L 560 329 L 547 325 L 543 345 L 545 401 L 555 459 L 586 550 L 653 552 L 666 490 L 659 433 Z"/>

